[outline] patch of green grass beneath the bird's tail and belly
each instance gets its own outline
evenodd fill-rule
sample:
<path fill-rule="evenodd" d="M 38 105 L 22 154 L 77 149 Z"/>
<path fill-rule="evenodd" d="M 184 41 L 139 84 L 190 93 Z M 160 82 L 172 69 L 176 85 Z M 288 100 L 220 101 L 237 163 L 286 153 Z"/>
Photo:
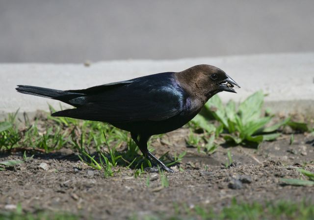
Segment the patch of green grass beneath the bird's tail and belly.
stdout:
<path fill-rule="evenodd" d="M 55 110 L 50 107 L 51 112 Z M 132 168 L 137 176 L 144 172 L 151 163 L 145 159 L 139 148 L 131 139 L 128 132 L 117 129 L 103 122 L 78 120 L 66 117 L 52 117 L 47 114 L 30 123 L 27 117 L 23 126 L 16 123 L 16 115 L 9 114 L 8 119 L 0 122 L 0 151 L 14 149 L 40 150 L 46 153 L 56 151 L 62 147 L 78 152 L 78 158 L 85 164 L 99 170 L 104 170 L 104 176 L 109 177 L 117 166 Z M 150 143 L 148 148 L 154 149 Z M 160 159 L 166 165 L 179 163 L 184 154 L 170 158 L 167 154 Z M 24 154 L 27 159 L 26 153 Z M 168 159 L 167 159 L 168 158 Z M 170 159 L 170 160 L 169 160 Z M 172 160 L 173 159 L 173 160 Z M 0 165 L 3 170 L 5 165 Z M 140 170 L 139 170 L 140 169 Z"/>

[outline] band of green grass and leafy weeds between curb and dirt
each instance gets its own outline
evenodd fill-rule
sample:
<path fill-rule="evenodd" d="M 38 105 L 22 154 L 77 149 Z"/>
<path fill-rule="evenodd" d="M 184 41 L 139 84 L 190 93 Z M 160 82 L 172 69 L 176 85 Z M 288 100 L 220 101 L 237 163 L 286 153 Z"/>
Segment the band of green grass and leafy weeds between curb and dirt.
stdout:
<path fill-rule="evenodd" d="M 222 143 L 219 137 L 246 145 L 248 142 L 275 139 L 280 136 L 279 129 L 284 126 L 313 133 L 314 130 L 309 129 L 307 124 L 292 122 L 290 118 L 273 123 L 274 115 L 269 111 L 262 114 L 263 97 L 261 91 L 256 92 L 236 108 L 233 101 L 223 105 L 217 95 L 213 96 L 202 112 L 189 123 L 190 135 L 186 143 L 197 147 L 199 152 L 212 154 Z M 50 107 L 50 111 L 55 110 Z M 85 164 L 104 170 L 105 177 L 118 171 L 115 169 L 117 166 L 141 169 L 135 175 L 142 173 L 143 167 L 152 166 L 141 155 L 128 132 L 106 123 L 47 114 L 33 123 L 25 115 L 24 125 L 21 126 L 16 123 L 17 113 L 9 114 L 6 121 L 0 122 L 0 151 L 20 148 L 23 151 L 35 149 L 48 153 L 63 147 L 70 148 L 79 153 L 79 159 Z M 152 139 L 159 137 L 153 136 L 149 141 L 150 151 L 154 151 L 150 146 Z M 293 139 L 291 136 L 290 144 Z M 173 165 L 179 163 L 183 156 L 171 158 L 165 154 L 161 160 L 166 165 Z"/>

